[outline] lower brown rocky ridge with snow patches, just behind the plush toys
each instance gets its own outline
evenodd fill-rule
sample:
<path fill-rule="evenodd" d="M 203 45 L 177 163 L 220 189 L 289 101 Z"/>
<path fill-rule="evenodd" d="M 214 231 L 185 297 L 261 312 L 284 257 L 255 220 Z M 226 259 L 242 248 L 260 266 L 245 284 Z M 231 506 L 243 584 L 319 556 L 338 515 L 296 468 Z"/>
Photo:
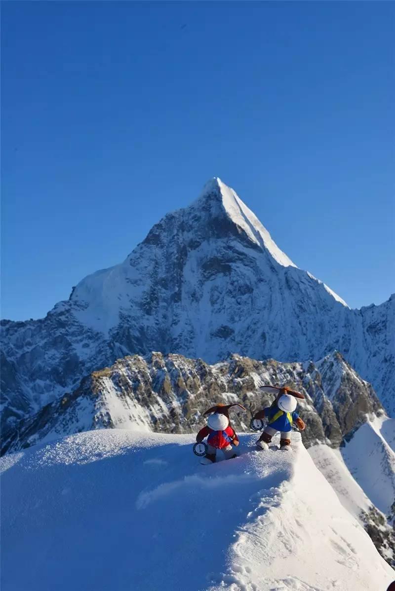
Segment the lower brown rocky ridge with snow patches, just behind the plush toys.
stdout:
<path fill-rule="evenodd" d="M 326 383 L 331 384 L 328 391 Z M 383 414 L 371 386 L 339 353 L 318 366 L 239 355 L 208 365 L 201 359 L 151 353 L 118 359 L 111 368 L 93 372 L 72 394 L 5 432 L 2 452 L 95 428 L 190 433 L 205 424 L 202 414 L 215 402 L 241 402 L 248 413 L 232 411 L 232 424 L 238 431 L 250 430 L 251 416 L 273 401 L 273 396 L 260 391 L 265 384 L 288 385 L 305 394 L 299 413 L 306 422 L 302 438 L 307 447 L 315 443 L 338 447 L 367 415 Z"/>

